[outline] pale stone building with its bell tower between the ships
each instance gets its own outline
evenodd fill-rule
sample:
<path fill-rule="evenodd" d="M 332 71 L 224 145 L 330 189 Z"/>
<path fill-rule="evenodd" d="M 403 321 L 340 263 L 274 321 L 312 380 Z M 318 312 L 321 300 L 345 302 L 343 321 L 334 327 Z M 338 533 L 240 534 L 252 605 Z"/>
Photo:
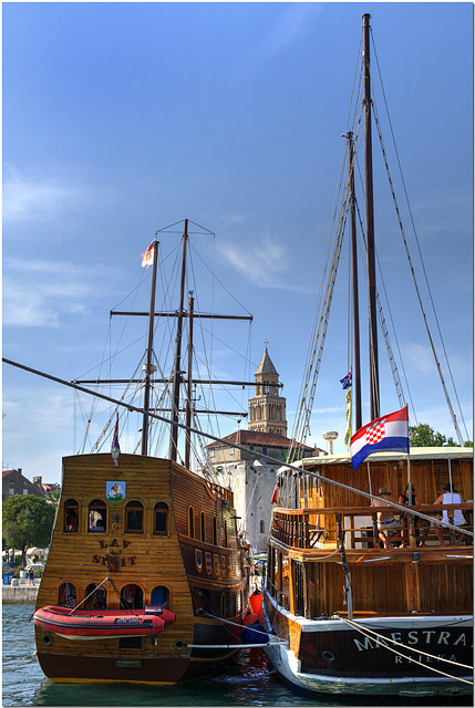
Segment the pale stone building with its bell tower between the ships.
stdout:
<path fill-rule="evenodd" d="M 223 442 L 211 442 L 207 452 L 219 483 L 234 491 L 238 528 L 246 530 L 255 553 L 265 553 L 277 470 L 285 462 L 291 444 L 287 437 L 286 399 L 279 395 L 282 384 L 267 347 L 255 379 L 255 396 L 249 398 L 249 429 L 237 430 Z M 231 444 L 241 445 L 246 450 Z M 311 447 L 304 450 L 309 456 L 321 454 Z M 257 452 L 273 459 L 262 460 Z"/>

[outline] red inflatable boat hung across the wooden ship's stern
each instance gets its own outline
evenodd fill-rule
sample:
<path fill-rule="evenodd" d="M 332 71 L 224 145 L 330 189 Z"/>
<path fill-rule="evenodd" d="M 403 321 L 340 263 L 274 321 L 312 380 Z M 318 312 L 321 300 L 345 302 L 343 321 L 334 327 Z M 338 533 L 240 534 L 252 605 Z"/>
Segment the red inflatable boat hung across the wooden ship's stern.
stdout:
<path fill-rule="evenodd" d="M 33 622 L 66 639 L 110 639 L 158 634 L 175 622 L 175 614 L 163 607 L 90 611 L 48 605 L 34 613 Z"/>

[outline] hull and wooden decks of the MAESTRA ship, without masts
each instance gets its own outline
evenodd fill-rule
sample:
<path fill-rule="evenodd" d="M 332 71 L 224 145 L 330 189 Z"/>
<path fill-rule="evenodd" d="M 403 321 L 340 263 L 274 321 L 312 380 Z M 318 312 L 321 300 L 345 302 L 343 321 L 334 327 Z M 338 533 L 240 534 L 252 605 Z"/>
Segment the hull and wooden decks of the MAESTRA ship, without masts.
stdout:
<path fill-rule="evenodd" d="M 412 450 L 412 480 L 426 501 L 417 509 L 426 517 L 440 509 L 432 500 L 448 481 L 447 458 L 457 489 L 473 498 L 469 454 Z M 275 510 L 269 538 L 264 624 L 287 639 L 265 649 L 276 669 L 319 694 L 472 695 L 473 537 L 455 545 L 456 534 L 445 532 L 450 545 L 441 545 L 433 525 L 422 537 L 424 527 L 409 519 L 409 545 L 400 537 L 396 548 L 383 548 L 376 508 L 329 480 L 369 491 L 370 478 L 373 490 L 403 490 L 406 469 L 396 456 L 370 460 L 358 479 L 343 456 L 302 467 L 298 502 Z M 463 509 L 472 533 L 473 507 Z"/>

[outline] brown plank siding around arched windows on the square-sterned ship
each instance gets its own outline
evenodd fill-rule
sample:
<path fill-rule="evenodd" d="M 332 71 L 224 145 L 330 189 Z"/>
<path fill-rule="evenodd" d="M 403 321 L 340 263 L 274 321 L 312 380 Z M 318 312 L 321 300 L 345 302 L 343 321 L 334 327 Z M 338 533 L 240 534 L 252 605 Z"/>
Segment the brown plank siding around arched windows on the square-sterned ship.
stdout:
<path fill-rule="evenodd" d="M 121 503 L 114 504 L 106 499 L 107 481 L 125 483 L 125 499 Z M 76 642 L 59 635 L 54 635 L 52 643 L 45 646 L 45 633 L 35 627 L 39 660 L 52 680 L 69 680 L 71 677 L 74 680 L 87 680 L 87 677 L 101 676 L 94 667 L 97 662 L 103 662 L 104 680 L 143 680 L 145 677 L 146 680 L 156 683 L 174 683 L 185 676 L 186 670 L 189 677 L 199 674 L 196 666 L 187 669 L 192 650 L 187 649 L 186 645 L 194 643 L 195 629 L 199 634 L 199 627 L 204 622 L 195 615 L 189 579 L 196 580 L 197 587 L 206 586 L 216 591 L 217 598 L 214 601 L 213 610 L 218 616 L 223 607 L 223 593 L 226 597 L 226 612 L 233 613 L 233 616 L 236 615 L 237 605 L 240 614 L 247 606 L 247 594 L 244 594 L 247 577 L 241 573 L 241 551 L 236 521 L 231 519 L 235 512 L 229 506 L 229 496 L 224 492 L 219 496 L 213 491 L 208 492 L 205 479 L 169 460 L 121 455 L 118 466 L 115 467 L 109 454 L 81 455 L 63 459 L 61 500 L 35 608 L 60 604 L 59 591 L 63 583 L 75 586 L 79 605 L 84 600 L 90 584 L 106 581 L 103 587 L 107 593 L 107 610 L 120 608 L 120 593 L 125 585 L 138 585 L 143 592 L 143 606 L 152 604 L 155 587 L 165 586 L 169 592 L 169 608 L 176 614 L 176 621 L 157 635 L 155 646 L 148 637 L 143 637 L 140 642 L 141 649 L 122 648 L 120 639 L 116 638 Z M 64 506 L 68 500 L 73 499 L 80 510 L 79 530 L 68 532 Z M 104 531 L 89 530 L 89 504 L 96 499 L 106 504 Z M 131 501 L 143 504 L 142 532 L 127 532 L 125 528 L 125 508 Z M 154 533 L 154 507 L 157 502 L 168 506 L 166 535 Z M 197 517 L 195 522 L 198 538 L 195 540 L 188 537 L 187 529 L 187 510 L 190 502 Z M 199 539 L 202 510 L 205 512 L 209 543 Z M 118 517 L 116 520 L 113 519 L 114 514 Z M 211 543 L 214 516 L 217 520 L 219 546 Z M 224 545 L 224 518 L 228 525 L 227 545 Z M 218 555 L 218 573 L 206 573 L 205 558 L 202 572 L 197 570 L 197 548 L 203 553 L 209 550 L 211 556 Z M 109 563 L 111 556 L 113 566 Z M 106 580 L 107 574 L 113 584 Z M 215 624 L 214 634 L 227 634 L 229 638 L 229 634 L 224 632 L 219 623 Z M 213 643 L 213 633 L 210 636 Z M 74 666 L 75 658 L 81 668 Z M 209 663 L 209 656 L 207 658 Z M 138 662 L 143 664 L 143 671 L 137 674 L 135 669 L 131 669 L 123 676 L 123 670 L 116 668 L 118 659 L 120 663 L 132 662 L 131 666 Z M 152 659 L 154 668 L 145 668 Z M 161 659 L 157 665 L 156 659 Z M 136 678 L 131 678 L 134 676 Z"/>

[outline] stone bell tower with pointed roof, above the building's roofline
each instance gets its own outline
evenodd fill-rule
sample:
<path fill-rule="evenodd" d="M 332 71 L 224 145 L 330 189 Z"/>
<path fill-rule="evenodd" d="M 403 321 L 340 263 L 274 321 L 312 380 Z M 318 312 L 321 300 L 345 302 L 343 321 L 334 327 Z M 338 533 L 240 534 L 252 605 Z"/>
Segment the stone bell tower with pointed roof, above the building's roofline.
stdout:
<path fill-rule="evenodd" d="M 279 374 L 266 351 L 257 367 L 256 395 L 249 398 L 248 429 L 287 437 L 286 399 L 279 396 Z"/>

